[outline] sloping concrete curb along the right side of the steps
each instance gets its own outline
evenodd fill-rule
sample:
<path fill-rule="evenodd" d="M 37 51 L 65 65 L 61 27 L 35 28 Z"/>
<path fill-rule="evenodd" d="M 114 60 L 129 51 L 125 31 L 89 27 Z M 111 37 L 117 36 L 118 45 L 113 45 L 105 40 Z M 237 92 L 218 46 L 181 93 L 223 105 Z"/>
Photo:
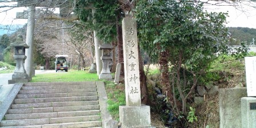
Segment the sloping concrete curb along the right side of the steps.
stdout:
<path fill-rule="evenodd" d="M 103 128 L 117 128 L 118 122 L 114 121 L 107 111 L 107 94 L 104 82 L 97 81 L 97 91 L 99 97 L 99 106 L 101 110 L 101 119 L 102 119 L 102 127 Z"/>

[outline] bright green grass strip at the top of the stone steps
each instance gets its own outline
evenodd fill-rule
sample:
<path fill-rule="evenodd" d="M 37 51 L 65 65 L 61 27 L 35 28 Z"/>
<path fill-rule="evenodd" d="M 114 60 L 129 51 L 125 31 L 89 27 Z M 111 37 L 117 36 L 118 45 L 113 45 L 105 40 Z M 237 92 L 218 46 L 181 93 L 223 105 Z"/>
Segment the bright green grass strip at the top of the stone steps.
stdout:
<path fill-rule="evenodd" d="M 38 74 L 32 78 L 31 82 L 81 82 L 81 81 L 100 81 L 96 73 L 86 71 L 69 70 L 66 73 L 47 73 Z"/>

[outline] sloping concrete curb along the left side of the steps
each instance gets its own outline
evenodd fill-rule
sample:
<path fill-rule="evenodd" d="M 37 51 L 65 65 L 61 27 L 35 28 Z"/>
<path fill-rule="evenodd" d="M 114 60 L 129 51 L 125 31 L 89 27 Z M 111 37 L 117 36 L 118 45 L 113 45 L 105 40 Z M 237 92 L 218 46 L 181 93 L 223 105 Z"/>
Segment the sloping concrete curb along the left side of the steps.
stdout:
<path fill-rule="evenodd" d="M 7 110 L 13 103 L 16 95 L 19 93 L 19 90 L 23 86 L 23 83 L 15 83 L 13 89 L 10 90 L 9 94 L 5 98 L 5 100 L 1 103 L 0 106 L 0 122 L 2 121 L 3 117 L 5 116 Z"/>

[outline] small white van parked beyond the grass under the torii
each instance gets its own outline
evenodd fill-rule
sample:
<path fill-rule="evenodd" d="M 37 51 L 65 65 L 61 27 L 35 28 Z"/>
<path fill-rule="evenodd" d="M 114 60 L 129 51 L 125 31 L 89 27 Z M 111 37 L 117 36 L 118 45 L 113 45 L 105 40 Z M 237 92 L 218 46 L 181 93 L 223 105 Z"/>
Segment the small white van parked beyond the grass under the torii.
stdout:
<path fill-rule="evenodd" d="M 68 55 L 56 55 L 56 61 L 55 61 L 55 70 L 56 72 L 58 70 L 61 71 L 67 71 L 69 69 L 69 66 L 67 65 L 67 57 Z"/>

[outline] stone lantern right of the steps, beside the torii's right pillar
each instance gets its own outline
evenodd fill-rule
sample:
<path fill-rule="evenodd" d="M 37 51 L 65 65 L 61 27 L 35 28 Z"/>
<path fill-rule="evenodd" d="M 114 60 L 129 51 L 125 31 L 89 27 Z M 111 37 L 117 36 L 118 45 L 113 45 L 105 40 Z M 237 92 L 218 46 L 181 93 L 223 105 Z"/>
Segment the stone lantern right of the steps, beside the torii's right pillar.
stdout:
<path fill-rule="evenodd" d="M 101 60 L 103 63 L 101 74 L 99 74 L 99 79 L 112 79 L 110 74 L 109 63 L 112 62 L 111 50 L 114 46 L 111 46 L 109 43 L 99 45 L 99 50 L 102 50 Z"/>

